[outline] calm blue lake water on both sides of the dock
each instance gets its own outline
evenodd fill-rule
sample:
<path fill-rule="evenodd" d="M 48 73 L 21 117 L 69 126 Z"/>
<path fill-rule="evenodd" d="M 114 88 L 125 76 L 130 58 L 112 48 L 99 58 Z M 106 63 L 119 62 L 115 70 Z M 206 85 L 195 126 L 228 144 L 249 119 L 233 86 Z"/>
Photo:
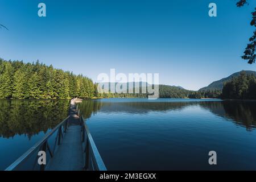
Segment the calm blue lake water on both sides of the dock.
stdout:
<path fill-rule="evenodd" d="M 68 100 L 0 100 L 0 169 L 68 114 Z M 256 169 L 256 102 L 112 98 L 81 112 L 112 169 Z M 217 152 L 217 166 L 208 152 Z"/>

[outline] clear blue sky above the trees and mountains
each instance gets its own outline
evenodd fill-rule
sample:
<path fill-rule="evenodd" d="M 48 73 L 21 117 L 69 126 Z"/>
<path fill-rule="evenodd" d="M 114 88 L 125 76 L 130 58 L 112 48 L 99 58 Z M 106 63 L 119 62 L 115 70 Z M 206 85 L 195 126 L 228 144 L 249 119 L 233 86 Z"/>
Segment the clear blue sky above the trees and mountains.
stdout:
<path fill-rule="evenodd" d="M 39 18 L 38 3 L 47 17 Z M 210 2 L 217 17 L 208 16 Z M 160 84 L 197 90 L 234 72 L 256 71 L 241 55 L 256 1 L 1 0 L 0 57 L 39 60 L 97 81 L 100 73 L 159 73 Z"/>

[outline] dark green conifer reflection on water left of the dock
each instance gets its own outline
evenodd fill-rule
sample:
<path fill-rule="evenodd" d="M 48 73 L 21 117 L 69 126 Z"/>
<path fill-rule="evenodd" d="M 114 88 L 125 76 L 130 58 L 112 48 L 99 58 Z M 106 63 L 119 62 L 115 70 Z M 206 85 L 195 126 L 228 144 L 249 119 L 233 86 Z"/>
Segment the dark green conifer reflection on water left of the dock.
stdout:
<path fill-rule="evenodd" d="M 0 137 L 46 133 L 67 117 L 68 107 L 69 100 L 0 100 Z"/>

